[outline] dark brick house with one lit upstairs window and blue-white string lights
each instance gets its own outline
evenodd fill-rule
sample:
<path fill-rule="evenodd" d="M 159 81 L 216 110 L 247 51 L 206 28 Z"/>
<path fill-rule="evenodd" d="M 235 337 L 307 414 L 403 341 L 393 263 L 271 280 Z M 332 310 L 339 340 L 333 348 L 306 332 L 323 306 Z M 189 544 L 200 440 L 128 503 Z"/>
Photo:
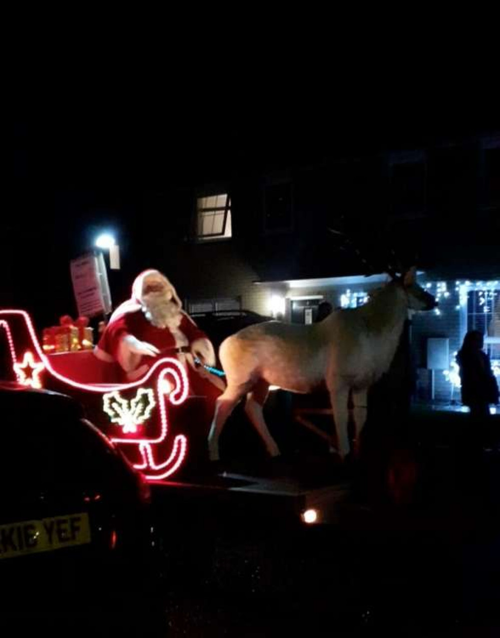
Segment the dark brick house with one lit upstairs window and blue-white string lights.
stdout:
<path fill-rule="evenodd" d="M 453 362 L 469 329 L 485 333 L 500 371 L 498 131 L 221 177 L 177 194 L 183 236 L 168 272 L 188 311 L 313 322 L 321 300 L 364 303 L 393 249 L 407 263 L 418 255 L 420 281 L 439 299 L 412 320 L 418 396 L 457 398 Z"/>

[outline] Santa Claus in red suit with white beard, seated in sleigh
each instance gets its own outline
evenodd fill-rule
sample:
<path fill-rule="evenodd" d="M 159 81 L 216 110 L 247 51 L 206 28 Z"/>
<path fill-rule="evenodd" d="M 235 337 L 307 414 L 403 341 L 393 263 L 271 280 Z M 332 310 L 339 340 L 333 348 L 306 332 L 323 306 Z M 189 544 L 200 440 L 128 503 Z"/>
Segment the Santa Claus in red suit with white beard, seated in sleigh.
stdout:
<path fill-rule="evenodd" d="M 195 361 L 213 366 L 212 344 L 182 311 L 170 281 L 156 270 L 144 271 L 135 279 L 131 299 L 114 311 L 94 353 L 103 361 L 118 362 L 129 381 L 143 376 L 154 358 L 176 357 L 186 364 L 191 392 L 223 390 L 221 380 Z M 212 387 L 203 388 L 204 383 Z"/>

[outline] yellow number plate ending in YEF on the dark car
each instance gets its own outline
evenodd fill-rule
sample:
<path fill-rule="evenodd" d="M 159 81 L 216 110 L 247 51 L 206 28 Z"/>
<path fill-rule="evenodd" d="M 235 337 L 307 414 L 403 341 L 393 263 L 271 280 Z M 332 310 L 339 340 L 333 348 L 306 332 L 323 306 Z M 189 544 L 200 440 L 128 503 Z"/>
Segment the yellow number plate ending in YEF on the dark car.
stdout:
<path fill-rule="evenodd" d="M 0 525 L 0 558 L 50 552 L 89 542 L 91 529 L 86 512 Z"/>

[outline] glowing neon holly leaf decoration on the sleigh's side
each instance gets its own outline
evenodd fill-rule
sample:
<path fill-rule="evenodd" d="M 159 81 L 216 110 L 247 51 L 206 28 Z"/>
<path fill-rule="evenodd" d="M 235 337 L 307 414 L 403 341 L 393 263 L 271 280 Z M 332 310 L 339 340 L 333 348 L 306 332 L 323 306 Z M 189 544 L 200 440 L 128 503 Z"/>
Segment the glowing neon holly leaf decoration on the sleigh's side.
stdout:
<path fill-rule="evenodd" d="M 124 399 L 118 390 L 107 392 L 103 396 L 103 410 L 107 413 L 112 423 L 122 427 L 124 434 L 136 432 L 137 427 L 145 423 L 156 401 L 154 391 L 151 388 L 139 388 L 133 399 Z"/>

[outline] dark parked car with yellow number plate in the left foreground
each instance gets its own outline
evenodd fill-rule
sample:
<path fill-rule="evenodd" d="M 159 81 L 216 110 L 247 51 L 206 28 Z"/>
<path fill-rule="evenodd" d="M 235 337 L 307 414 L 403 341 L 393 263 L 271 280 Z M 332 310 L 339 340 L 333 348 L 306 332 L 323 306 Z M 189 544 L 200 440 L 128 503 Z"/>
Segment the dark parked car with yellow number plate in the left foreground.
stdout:
<path fill-rule="evenodd" d="M 128 600 L 154 565 L 149 484 L 74 399 L 0 383 L 0 616 Z"/>

